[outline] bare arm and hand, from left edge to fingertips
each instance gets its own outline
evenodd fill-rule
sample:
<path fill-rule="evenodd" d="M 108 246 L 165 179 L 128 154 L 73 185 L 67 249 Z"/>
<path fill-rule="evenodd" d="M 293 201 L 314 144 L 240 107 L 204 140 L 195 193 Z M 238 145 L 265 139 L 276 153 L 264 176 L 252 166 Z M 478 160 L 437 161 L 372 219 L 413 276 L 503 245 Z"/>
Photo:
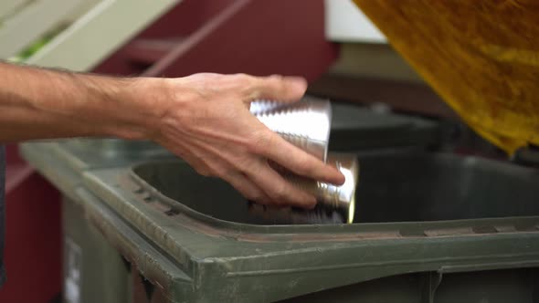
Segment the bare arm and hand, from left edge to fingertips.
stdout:
<path fill-rule="evenodd" d="M 148 139 L 264 204 L 313 206 L 269 162 L 327 183 L 344 176 L 284 141 L 248 110 L 253 99 L 295 101 L 302 78 L 198 74 L 105 78 L 0 63 L 0 143 L 114 136 Z"/>

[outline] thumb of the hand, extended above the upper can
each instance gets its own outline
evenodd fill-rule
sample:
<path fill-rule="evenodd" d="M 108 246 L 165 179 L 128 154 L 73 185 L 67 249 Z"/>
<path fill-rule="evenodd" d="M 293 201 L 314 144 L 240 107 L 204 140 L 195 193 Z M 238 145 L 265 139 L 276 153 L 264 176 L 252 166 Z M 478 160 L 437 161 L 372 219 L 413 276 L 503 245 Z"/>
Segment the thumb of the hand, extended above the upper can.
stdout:
<path fill-rule="evenodd" d="M 298 101 L 307 90 L 307 80 L 301 77 L 253 77 L 248 100 L 271 99 L 281 102 Z"/>

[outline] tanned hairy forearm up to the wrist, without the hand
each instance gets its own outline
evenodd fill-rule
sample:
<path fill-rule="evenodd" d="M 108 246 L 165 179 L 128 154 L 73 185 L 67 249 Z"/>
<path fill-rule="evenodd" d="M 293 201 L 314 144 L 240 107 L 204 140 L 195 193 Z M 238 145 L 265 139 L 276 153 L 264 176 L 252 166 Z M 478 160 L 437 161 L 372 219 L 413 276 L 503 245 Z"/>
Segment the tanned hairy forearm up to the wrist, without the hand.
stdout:
<path fill-rule="evenodd" d="M 0 62 L 0 142 L 115 136 L 148 137 L 148 82 Z M 158 109 L 155 109 L 157 111 Z M 158 115 L 157 112 L 154 112 Z"/>

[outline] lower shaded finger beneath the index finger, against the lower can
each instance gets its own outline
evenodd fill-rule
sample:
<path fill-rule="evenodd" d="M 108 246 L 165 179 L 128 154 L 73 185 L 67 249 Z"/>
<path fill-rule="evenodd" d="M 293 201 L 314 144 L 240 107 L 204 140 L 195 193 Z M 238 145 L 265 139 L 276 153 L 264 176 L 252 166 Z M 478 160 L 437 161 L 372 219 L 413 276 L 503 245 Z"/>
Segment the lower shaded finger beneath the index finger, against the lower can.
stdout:
<path fill-rule="evenodd" d="M 273 204 L 280 206 L 291 205 L 303 208 L 312 208 L 316 205 L 316 198 L 310 194 L 301 191 L 291 183 L 275 172 L 268 162 L 260 160 L 259 164 L 252 170 L 246 172 L 248 178 L 259 185 Z"/>

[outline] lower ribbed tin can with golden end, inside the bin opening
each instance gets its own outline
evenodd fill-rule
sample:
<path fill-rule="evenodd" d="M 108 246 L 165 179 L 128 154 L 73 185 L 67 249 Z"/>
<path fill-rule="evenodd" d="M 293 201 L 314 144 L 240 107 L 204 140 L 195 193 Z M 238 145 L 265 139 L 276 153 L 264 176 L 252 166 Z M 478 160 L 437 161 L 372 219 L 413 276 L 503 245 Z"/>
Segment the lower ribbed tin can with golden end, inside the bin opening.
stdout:
<path fill-rule="evenodd" d="M 330 153 L 329 164 L 345 177 L 343 185 L 314 181 L 291 172 L 281 174 L 298 188 L 312 193 L 318 204 L 312 210 L 296 208 L 274 208 L 250 204 L 249 212 L 257 215 L 263 222 L 271 224 L 337 224 L 354 222 L 355 188 L 359 178 L 359 162 L 352 153 Z"/>

